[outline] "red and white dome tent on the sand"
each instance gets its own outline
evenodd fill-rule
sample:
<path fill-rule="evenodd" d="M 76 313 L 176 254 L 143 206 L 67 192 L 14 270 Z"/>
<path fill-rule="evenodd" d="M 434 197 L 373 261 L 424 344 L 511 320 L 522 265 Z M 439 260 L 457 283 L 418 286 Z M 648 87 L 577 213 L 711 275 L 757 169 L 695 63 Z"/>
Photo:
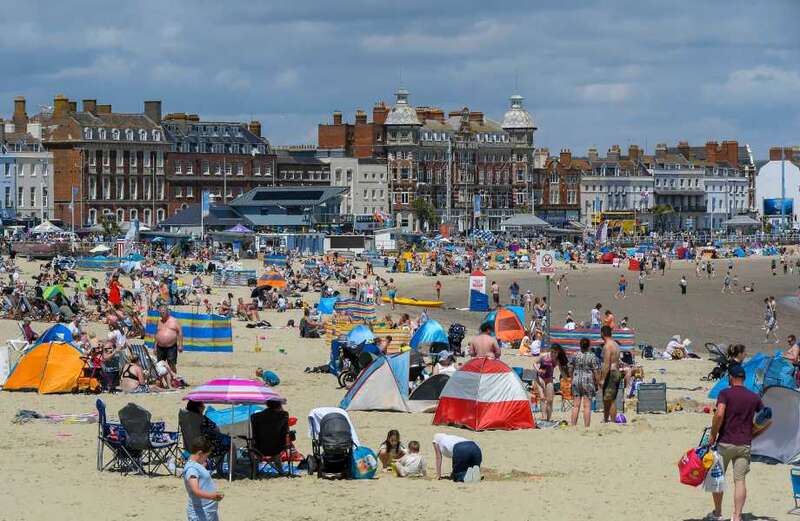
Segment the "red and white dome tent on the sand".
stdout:
<path fill-rule="evenodd" d="M 439 396 L 434 425 L 475 431 L 535 427 L 525 386 L 506 364 L 473 358 L 456 371 Z"/>

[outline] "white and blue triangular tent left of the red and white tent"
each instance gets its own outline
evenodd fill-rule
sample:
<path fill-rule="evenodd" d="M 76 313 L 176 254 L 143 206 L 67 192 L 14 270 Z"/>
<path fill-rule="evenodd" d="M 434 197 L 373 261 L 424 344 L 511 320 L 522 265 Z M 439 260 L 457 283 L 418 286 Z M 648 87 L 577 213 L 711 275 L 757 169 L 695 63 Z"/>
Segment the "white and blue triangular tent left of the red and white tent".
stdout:
<path fill-rule="evenodd" d="M 408 408 L 410 353 L 382 356 L 361 372 L 339 407 L 348 411 L 398 411 Z"/>

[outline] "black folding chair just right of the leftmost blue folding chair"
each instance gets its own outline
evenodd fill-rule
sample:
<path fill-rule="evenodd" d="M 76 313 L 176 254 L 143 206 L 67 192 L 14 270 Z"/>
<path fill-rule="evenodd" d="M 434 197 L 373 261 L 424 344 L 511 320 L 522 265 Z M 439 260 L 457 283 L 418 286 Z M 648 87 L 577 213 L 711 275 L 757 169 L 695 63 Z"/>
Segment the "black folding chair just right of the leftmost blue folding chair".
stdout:
<path fill-rule="evenodd" d="M 129 403 L 119 411 L 119 421 L 125 428 L 123 445 L 126 456 L 134 463 L 136 470 L 152 477 L 163 468 L 168 474 L 170 460 L 177 460 L 178 433 L 167 432 L 163 423 L 153 424 L 150 412 L 135 403 Z"/>

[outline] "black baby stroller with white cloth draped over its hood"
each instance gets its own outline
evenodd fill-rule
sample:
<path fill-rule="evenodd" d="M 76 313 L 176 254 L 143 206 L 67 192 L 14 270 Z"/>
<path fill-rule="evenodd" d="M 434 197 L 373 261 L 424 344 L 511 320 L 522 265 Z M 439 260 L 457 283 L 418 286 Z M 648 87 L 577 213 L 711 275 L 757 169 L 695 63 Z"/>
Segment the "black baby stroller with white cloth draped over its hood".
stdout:
<path fill-rule="evenodd" d="M 343 409 L 320 407 L 308 415 L 312 455 L 308 473 L 318 478 L 350 478 L 353 445 L 357 443 L 350 419 Z"/>

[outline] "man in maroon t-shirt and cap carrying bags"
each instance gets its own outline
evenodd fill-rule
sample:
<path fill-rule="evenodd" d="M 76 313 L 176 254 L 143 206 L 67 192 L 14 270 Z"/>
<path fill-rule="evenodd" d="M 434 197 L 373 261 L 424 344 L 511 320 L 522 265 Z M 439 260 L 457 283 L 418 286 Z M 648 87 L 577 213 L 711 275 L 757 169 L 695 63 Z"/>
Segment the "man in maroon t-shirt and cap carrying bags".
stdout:
<path fill-rule="evenodd" d="M 717 412 L 711 424 L 709 443 L 717 444 L 725 471 L 728 464 L 733 463 L 733 515 L 731 521 L 741 521 L 742 508 L 747 499 L 745 476 L 750 471 L 750 444 L 753 438 L 769 427 L 766 423 L 754 432 L 755 414 L 764 408 L 761 398 L 743 383 L 744 367 L 733 364 L 728 368 L 730 387 L 719 393 Z M 707 519 L 722 519 L 722 492 L 715 492 L 714 511 Z"/>

